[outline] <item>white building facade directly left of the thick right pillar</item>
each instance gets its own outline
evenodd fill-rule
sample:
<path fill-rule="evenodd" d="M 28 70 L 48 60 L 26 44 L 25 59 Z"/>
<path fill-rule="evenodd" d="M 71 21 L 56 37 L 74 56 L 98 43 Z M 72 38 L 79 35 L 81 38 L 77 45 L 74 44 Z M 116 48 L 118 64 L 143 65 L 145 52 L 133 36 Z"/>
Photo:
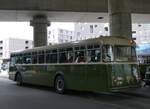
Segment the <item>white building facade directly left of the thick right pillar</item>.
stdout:
<path fill-rule="evenodd" d="M 108 23 L 75 23 L 74 40 L 109 36 Z"/>

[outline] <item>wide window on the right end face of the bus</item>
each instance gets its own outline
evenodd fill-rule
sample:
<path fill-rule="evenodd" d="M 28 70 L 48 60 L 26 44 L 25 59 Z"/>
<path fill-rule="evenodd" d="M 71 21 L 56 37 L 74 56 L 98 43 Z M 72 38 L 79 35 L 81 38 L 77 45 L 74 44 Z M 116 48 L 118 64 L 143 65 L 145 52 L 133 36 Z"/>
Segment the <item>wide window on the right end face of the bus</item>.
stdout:
<path fill-rule="evenodd" d="M 115 46 L 115 61 L 136 61 L 136 51 L 133 46 Z"/>

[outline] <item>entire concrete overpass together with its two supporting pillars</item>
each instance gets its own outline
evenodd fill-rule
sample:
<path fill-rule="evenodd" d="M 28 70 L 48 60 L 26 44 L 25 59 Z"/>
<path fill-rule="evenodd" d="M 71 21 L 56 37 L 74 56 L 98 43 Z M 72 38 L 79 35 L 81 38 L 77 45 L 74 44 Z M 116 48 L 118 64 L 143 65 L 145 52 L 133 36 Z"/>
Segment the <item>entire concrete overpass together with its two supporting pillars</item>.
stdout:
<path fill-rule="evenodd" d="M 35 46 L 46 42 L 48 21 L 110 22 L 112 35 L 131 37 L 131 13 L 133 22 L 148 23 L 149 5 L 150 0 L 0 0 L 0 21 L 32 20 Z"/>

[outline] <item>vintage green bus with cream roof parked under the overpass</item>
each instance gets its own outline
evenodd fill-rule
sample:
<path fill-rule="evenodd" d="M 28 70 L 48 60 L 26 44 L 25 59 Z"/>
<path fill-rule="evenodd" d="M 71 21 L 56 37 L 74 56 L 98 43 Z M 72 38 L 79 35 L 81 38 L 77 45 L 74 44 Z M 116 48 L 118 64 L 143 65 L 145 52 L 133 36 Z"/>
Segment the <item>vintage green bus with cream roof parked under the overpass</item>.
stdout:
<path fill-rule="evenodd" d="M 123 37 L 99 37 L 14 52 L 9 78 L 80 91 L 114 91 L 139 85 L 135 42 Z"/>

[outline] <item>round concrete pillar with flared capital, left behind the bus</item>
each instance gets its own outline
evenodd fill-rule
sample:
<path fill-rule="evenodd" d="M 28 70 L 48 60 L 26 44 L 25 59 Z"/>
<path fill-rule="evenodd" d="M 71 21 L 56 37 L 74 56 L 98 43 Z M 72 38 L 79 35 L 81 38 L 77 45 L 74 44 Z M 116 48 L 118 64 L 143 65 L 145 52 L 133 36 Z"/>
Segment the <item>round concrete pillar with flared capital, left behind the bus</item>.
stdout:
<path fill-rule="evenodd" d="M 50 22 L 44 15 L 36 15 L 33 20 L 30 21 L 30 25 L 33 26 L 34 31 L 34 47 L 47 45 L 47 26 L 50 26 Z"/>

